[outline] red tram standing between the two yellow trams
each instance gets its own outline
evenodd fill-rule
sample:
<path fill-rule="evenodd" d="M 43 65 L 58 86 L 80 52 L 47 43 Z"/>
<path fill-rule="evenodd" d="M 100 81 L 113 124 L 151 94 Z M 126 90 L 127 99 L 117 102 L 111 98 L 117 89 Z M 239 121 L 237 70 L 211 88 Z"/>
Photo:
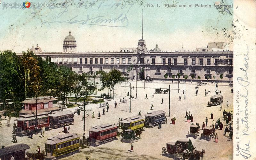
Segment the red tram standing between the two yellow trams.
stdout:
<path fill-rule="evenodd" d="M 117 125 L 113 124 L 102 124 L 94 126 L 90 130 L 89 141 L 92 146 L 100 145 L 106 141 L 116 139 L 117 136 Z"/>

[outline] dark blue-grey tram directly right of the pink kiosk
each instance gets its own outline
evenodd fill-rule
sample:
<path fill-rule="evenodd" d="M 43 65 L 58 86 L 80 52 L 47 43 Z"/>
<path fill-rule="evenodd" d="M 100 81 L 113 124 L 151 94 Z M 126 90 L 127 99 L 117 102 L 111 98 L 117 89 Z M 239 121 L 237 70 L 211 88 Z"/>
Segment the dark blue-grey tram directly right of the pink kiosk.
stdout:
<path fill-rule="evenodd" d="M 62 127 L 65 124 L 72 125 L 74 123 L 74 112 L 70 110 L 62 110 L 48 114 L 52 122 L 52 128 Z"/>

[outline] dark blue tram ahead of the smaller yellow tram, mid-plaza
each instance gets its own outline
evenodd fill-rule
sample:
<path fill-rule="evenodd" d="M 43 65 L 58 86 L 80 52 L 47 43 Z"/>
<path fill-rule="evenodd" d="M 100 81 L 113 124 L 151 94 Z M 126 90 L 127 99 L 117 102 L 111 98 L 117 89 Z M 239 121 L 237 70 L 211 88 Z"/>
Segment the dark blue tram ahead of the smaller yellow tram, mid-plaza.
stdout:
<path fill-rule="evenodd" d="M 154 127 L 163 124 L 166 122 L 165 111 L 156 110 L 150 113 L 145 114 L 145 127 Z"/>

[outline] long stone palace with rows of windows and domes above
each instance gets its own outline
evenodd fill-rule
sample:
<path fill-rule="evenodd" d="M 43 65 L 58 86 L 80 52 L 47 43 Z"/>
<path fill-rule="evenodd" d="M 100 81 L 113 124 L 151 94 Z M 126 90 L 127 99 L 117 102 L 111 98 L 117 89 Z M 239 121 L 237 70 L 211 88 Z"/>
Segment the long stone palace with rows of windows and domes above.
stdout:
<path fill-rule="evenodd" d="M 233 51 L 224 42 L 208 43 L 205 48 L 193 51 L 164 51 L 158 45 L 149 50 L 145 40 L 140 39 L 137 47 L 120 48 L 118 52 L 77 52 L 76 39 L 69 31 L 63 41 L 62 52 L 42 52 L 38 45 L 31 50 L 37 56 L 51 57 L 55 64 L 68 66 L 77 73 L 94 74 L 100 70 L 109 72 L 117 69 L 129 79 L 135 79 L 138 75 L 139 80 L 172 80 L 172 75 L 176 79 L 177 73 L 180 73 L 181 80 L 188 75 L 188 80 L 195 76 L 194 80 L 200 77 L 203 81 L 214 80 L 215 75 L 221 80 L 222 74 L 222 81 L 233 81 Z M 127 71 L 132 66 L 133 69 Z M 167 75 L 166 79 L 164 75 Z"/>

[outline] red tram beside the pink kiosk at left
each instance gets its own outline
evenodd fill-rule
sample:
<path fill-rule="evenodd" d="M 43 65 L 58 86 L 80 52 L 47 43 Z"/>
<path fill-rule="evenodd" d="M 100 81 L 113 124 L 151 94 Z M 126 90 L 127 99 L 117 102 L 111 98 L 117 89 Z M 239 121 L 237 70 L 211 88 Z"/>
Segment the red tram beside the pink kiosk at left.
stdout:
<path fill-rule="evenodd" d="M 49 128 L 49 116 L 46 112 L 38 113 L 37 119 L 34 114 L 21 115 L 20 118 L 17 119 L 16 134 L 19 136 L 26 135 L 29 129 L 34 130 L 36 126 L 38 129 L 42 126 Z"/>

